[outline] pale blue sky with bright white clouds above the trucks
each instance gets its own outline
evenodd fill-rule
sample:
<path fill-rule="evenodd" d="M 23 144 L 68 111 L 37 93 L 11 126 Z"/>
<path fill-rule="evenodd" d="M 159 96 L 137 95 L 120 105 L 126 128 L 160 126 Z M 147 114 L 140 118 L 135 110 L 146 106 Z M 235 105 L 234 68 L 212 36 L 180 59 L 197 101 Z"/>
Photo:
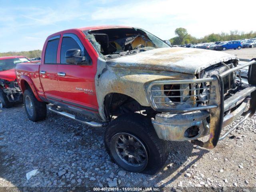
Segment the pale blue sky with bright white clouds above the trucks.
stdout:
<path fill-rule="evenodd" d="M 256 31 L 255 7 L 255 0 L 0 0 L 0 52 L 42 50 L 50 34 L 84 26 L 134 26 L 163 40 L 179 27 L 197 38 Z"/>

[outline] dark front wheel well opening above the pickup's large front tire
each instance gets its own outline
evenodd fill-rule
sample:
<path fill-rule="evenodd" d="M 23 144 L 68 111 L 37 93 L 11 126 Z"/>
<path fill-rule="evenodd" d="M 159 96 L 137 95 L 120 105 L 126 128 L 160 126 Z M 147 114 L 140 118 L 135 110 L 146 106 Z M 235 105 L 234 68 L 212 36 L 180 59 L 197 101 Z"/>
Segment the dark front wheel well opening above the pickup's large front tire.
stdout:
<path fill-rule="evenodd" d="M 110 93 L 105 96 L 104 112 L 108 119 L 125 113 L 141 112 L 150 117 L 156 113 L 151 107 L 142 106 L 134 98 L 120 93 Z"/>

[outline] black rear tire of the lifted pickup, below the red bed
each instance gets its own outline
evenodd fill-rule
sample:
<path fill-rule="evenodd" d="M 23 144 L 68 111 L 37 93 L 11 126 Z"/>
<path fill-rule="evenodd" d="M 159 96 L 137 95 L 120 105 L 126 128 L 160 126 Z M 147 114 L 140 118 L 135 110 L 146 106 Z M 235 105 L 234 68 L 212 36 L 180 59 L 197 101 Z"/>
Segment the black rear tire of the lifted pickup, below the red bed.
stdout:
<path fill-rule="evenodd" d="M 33 106 L 32 114 L 29 114 L 28 109 L 27 109 L 27 107 L 28 107 L 26 104 L 27 97 L 31 100 L 31 103 Z M 25 90 L 24 96 L 23 96 L 23 102 L 24 102 L 25 111 L 26 111 L 26 114 L 27 114 L 29 120 L 37 122 L 40 120 L 44 120 L 46 118 L 46 114 L 47 114 L 46 103 L 38 101 L 31 89 Z"/>

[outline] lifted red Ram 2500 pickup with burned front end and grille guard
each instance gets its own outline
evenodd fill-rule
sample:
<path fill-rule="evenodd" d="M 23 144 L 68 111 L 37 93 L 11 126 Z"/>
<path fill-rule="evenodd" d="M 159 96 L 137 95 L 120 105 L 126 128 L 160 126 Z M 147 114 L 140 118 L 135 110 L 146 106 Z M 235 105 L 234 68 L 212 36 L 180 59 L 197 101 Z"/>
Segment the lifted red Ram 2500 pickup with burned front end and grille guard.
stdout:
<path fill-rule="evenodd" d="M 110 157 L 126 170 L 153 174 L 166 162 L 167 141 L 212 149 L 254 114 L 256 61 L 238 62 L 224 52 L 172 48 L 140 28 L 98 26 L 50 35 L 41 63 L 17 64 L 16 75 L 30 120 L 46 118 L 48 106 L 106 127 Z M 248 83 L 239 73 L 246 66 Z M 208 141 L 198 140 L 203 136 Z"/>

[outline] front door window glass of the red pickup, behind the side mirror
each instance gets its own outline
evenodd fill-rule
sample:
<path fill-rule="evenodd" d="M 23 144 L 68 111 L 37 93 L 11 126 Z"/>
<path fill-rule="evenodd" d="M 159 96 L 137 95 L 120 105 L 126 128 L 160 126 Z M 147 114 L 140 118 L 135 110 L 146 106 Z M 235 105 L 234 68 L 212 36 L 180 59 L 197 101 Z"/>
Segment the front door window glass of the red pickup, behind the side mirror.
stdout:
<path fill-rule="evenodd" d="M 72 37 L 63 37 L 62 38 L 62 44 L 61 44 L 61 50 L 60 50 L 60 63 L 66 63 L 65 62 L 65 54 L 66 51 L 69 49 L 80 49 L 80 46 L 74 40 Z M 81 52 L 84 52 L 84 50 L 81 50 Z"/>

